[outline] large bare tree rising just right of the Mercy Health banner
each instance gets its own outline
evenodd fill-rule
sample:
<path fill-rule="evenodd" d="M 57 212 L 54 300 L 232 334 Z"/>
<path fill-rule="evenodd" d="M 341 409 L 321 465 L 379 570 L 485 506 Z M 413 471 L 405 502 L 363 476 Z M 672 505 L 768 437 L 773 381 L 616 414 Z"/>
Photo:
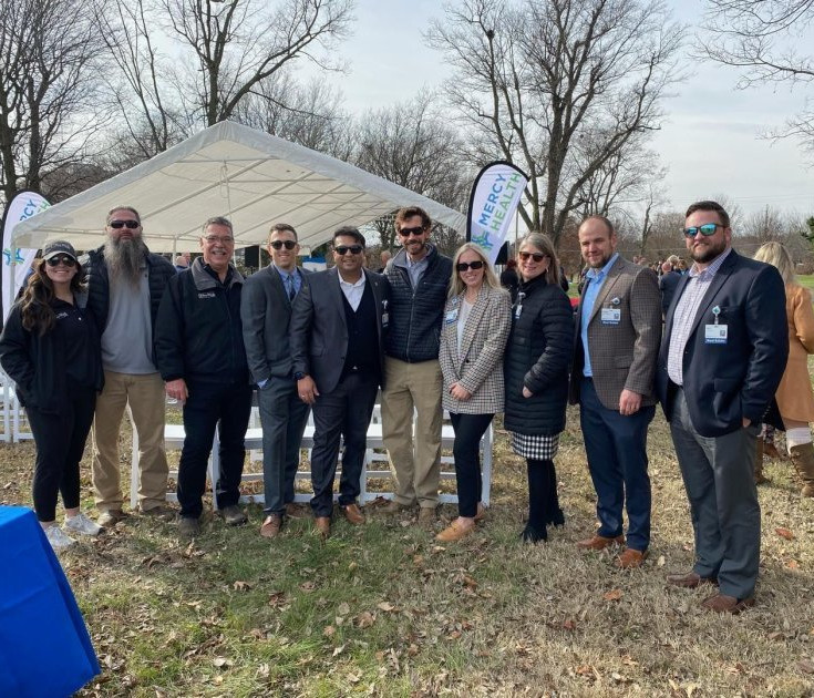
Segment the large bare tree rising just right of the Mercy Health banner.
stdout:
<path fill-rule="evenodd" d="M 522 216 L 555 244 L 596 171 L 659 127 L 683 37 L 659 0 L 462 0 L 429 32 L 460 119 L 526 171 Z"/>

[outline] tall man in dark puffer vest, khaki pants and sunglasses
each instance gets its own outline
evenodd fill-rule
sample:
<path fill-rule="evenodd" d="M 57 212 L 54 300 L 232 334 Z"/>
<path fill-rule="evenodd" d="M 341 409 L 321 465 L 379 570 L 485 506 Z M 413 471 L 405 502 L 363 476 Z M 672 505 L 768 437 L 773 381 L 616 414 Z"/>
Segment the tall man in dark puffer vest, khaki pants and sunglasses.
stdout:
<path fill-rule="evenodd" d="M 430 243 L 432 222 L 418 206 L 395 215 L 402 249 L 385 270 L 392 294 L 382 392 L 382 435 L 395 481 L 385 513 L 418 502 L 419 520 L 435 520 L 441 473 L 441 397 L 439 363 L 441 320 L 452 278 L 452 259 Z M 413 411 L 416 414 L 413 442 Z"/>

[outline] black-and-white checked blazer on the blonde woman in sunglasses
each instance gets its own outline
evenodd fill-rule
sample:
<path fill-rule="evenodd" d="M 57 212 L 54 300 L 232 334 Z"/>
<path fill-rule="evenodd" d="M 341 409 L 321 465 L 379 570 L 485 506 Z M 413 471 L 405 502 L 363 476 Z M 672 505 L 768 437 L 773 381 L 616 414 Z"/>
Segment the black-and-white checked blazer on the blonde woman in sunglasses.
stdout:
<path fill-rule="evenodd" d="M 466 319 L 458 351 L 457 322 L 446 320 L 462 302 L 463 294 L 447 299 L 444 308 L 439 352 L 444 409 L 458 414 L 502 412 L 503 355 L 512 328 L 512 300 L 507 291 L 484 284 Z M 472 393 L 468 400 L 455 400 L 450 394 L 450 386 L 455 382 Z"/>

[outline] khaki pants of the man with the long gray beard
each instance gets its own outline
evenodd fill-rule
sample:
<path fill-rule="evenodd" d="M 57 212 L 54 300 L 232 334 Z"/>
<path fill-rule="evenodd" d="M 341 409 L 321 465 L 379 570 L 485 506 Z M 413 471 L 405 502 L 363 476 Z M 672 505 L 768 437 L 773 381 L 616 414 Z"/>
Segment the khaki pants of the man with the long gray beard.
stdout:
<path fill-rule="evenodd" d="M 93 491 L 96 509 L 102 512 L 122 509 L 119 432 L 127 406 L 138 434 L 138 504 L 142 511 L 148 511 L 163 505 L 166 499 L 164 381 L 158 373 L 105 371 L 92 431 Z"/>

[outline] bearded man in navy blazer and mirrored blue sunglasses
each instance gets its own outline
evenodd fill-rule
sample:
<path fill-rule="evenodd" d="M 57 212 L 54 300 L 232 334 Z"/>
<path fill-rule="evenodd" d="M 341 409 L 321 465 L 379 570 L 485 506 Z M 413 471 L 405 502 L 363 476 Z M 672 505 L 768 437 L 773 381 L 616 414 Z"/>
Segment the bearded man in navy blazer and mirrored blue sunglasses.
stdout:
<path fill-rule="evenodd" d="M 691 572 L 670 584 L 717 583 L 701 604 L 739 613 L 754 604 L 760 504 L 756 438 L 785 369 L 785 291 L 777 270 L 741 257 L 715 202 L 692 204 L 681 277 L 659 352 L 657 390 L 676 445 L 695 534 Z"/>

